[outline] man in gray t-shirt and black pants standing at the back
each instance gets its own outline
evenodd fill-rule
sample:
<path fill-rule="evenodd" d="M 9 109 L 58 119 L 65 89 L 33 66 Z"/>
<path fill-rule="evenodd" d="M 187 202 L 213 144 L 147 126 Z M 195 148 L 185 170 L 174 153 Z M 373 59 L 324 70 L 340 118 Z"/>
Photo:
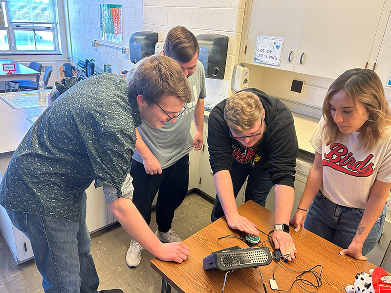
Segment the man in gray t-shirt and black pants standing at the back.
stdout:
<path fill-rule="evenodd" d="M 182 203 L 189 186 L 189 155 L 194 148 L 202 146 L 202 127 L 204 102 L 206 97 L 205 72 L 202 63 L 197 60 L 199 45 L 194 34 L 185 27 L 177 26 L 167 34 L 164 49 L 160 53 L 173 58 L 179 63 L 186 75 L 192 91 L 192 100 L 185 103 L 179 113 L 168 113 L 170 122 L 160 129 L 155 129 L 145 120 L 137 127 L 136 152 L 130 174 L 133 177 L 133 203 L 144 217 L 151 222 L 152 201 L 159 190 L 156 203 L 156 236 L 162 242 L 176 242 L 182 239 L 171 230 L 174 211 Z M 139 66 L 136 63 L 128 73 L 131 77 Z M 192 118 L 195 124 L 195 135 L 192 138 L 190 126 Z M 141 245 L 131 240 L 126 254 L 126 263 L 135 268 L 141 260 Z"/>

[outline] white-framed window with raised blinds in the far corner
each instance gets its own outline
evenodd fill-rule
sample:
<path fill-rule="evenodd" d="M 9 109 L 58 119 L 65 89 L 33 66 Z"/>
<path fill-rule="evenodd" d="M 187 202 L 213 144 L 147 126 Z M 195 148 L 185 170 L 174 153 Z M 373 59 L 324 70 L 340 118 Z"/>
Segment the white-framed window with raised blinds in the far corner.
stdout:
<path fill-rule="evenodd" d="M 56 0 L 0 3 L 0 53 L 59 53 Z"/>

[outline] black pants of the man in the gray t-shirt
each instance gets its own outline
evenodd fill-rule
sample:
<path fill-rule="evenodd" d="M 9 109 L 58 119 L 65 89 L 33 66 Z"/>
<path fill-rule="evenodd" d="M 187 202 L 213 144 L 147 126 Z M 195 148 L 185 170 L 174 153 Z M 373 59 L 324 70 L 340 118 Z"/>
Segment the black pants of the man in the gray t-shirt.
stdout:
<path fill-rule="evenodd" d="M 151 206 L 156 192 L 156 223 L 159 231 L 171 229 L 174 212 L 183 202 L 189 188 L 189 155 L 183 156 L 161 174 L 147 174 L 144 165 L 133 160 L 130 168 L 133 178 L 133 204 L 144 220 L 151 223 Z"/>

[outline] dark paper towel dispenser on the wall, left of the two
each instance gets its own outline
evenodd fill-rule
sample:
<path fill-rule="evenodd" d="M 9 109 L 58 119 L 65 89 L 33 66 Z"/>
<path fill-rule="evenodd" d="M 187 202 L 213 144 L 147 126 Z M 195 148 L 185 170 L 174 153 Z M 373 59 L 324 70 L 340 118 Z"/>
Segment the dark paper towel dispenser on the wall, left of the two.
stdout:
<path fill-rule="evenodd" d="M 158 35 L 156 32 L 142 31 L 133 33 L 129 39 L 130 62 L 137 63 L 141 59 L 153 55 L 157 40 Z"/>

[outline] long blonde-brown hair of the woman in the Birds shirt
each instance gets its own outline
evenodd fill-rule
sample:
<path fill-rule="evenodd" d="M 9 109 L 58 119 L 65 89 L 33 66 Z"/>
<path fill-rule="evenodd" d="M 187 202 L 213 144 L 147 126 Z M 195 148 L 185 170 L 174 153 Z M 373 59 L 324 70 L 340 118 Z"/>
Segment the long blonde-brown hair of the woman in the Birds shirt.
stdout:
<path fill-rule="evenodd" d="M 368 149 L 376 145 L 384 138 L 384 127 L 391 124 L 390 109 L 379 77 L 370 69 L 354 68 L 345 71 L 330 85 L 322 111 L 326 120 L 325 135 L 331 142 L 336 142 L 342 135 L 331 116 L 329 105 L 330 99 L 340 90 L 348 93 L 354 110 L 357 111 L 357 103 L 360 102 L 369 113 L 359 135 L 361 146 Z"/>

